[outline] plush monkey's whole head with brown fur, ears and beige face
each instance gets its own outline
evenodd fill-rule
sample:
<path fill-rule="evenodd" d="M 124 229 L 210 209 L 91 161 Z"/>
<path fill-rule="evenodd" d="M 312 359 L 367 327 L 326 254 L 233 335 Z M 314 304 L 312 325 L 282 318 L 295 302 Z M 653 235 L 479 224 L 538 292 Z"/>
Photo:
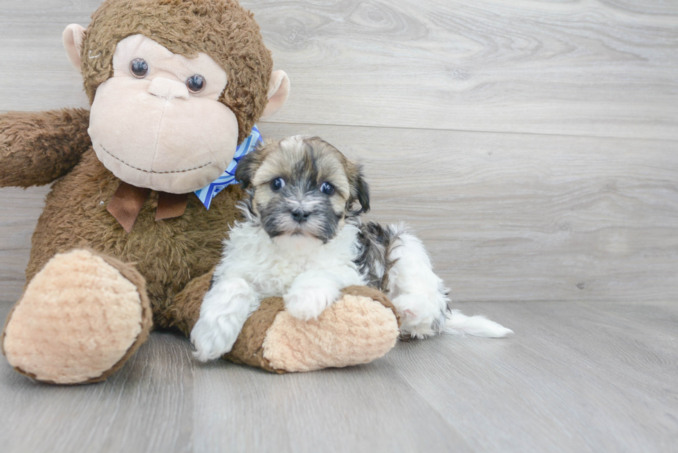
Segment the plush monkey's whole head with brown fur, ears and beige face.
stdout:
<path fill-rule="evenodd" d="M 137 187 L 183 194 L 212 183 L 289 94 L 234 0 L 106 0 L 63 39 L 92 103 L 94 150 Z"/>

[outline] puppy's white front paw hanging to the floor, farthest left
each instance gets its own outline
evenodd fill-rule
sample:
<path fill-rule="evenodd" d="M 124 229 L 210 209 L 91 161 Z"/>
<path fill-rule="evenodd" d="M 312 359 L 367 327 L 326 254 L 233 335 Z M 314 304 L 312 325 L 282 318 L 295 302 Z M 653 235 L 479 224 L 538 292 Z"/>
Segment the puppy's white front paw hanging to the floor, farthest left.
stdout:
<path fill-rule="evenodd" d="M 191 331 L 194 358 L 207 362 L 230 352 L 240 333 L 235 324 L 228 315 L 210 320 L 201 317 Z"/>

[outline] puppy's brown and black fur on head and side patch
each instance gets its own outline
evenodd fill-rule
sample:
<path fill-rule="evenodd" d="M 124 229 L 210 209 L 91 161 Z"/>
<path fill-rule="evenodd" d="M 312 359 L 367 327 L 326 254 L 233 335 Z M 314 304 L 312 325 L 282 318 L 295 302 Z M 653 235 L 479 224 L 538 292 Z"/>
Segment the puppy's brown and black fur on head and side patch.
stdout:
<path fill-rule="evenodd" d="M 310 232 L 327 242 L 343 222 L 356 225 L 360 228 L 356 266 L 369 286 L 387 290 L 388 273 L 394 264 L 391 251 L 403 229 L 360 221 L 359 215 L 369 210 L 369 186 L 360 165 L 318 137 L 293 136 L 266 142 L 242 158 L 235 177 L 248 191 L 250 213 L 270 237 Z M 277 178 L 282 178 L 285 186 L 274 190 L 270 185 Z M 324 182 L 336 187 L 333 196 L 320 192 Z M 313 206 L 309 219 L 315 216 L 314 229 L 296 230 L 290 199 Z"/>

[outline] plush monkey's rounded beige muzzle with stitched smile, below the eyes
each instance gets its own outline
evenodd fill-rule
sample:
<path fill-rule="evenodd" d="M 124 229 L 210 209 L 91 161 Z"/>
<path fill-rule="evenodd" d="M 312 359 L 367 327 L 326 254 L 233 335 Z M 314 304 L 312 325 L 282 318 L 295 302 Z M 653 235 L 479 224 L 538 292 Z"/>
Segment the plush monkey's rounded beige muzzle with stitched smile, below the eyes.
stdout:
<path fill-rule="evenodd" d="M 97 157 L 137 187 L 185 194 L 212 183 L 235 154 L 235 114 L 210 99 L 154 94 L 150 83 L 111 77 L 98 87 L 88 129 Z"/>

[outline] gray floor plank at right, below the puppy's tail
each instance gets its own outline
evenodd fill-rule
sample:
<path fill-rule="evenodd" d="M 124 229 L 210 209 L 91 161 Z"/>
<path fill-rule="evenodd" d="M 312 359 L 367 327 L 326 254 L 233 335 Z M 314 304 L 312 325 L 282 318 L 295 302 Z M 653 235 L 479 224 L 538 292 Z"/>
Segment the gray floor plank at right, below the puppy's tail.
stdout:
<path fill-rule="evenodd" d="M 404 343 L 388 360 L 473 450 L 675 451 L 675 303 L 460 306 L 515 338 Z"/>

